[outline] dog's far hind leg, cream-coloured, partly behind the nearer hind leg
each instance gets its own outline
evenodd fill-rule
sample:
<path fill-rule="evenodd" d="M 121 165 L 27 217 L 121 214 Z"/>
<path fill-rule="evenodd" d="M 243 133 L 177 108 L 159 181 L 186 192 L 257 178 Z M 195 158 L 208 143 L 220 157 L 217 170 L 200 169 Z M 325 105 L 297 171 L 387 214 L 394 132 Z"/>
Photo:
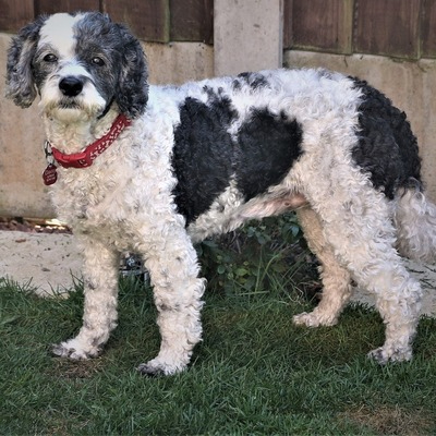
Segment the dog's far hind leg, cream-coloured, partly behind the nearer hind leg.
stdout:
<path fill-rule="evenodd" d="M 296 215 L 308 247 L 322 264 L 323 295 L 313 312 L 295 315 L 293 322 L 307 327 L 332 326 L 350 299 L 350 274 L 339 265 L 326 242 L 317 214 L 311 207 L 303 207 L 296 210 Z"/>

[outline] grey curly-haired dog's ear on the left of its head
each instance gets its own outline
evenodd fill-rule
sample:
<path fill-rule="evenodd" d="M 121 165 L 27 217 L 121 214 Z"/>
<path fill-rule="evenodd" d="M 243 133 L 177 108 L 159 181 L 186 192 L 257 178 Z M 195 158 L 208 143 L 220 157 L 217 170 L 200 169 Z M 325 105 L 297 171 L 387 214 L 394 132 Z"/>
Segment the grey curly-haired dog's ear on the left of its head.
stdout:
<path fill-rule="evenodd" d="M 13 99 L 15 105 L 22 108 L 28 108 L 37 95 L 32 74 L 32 60 L 36 51 L 39 31 L 46 20 L 46 16 L 40 16 L 34 23 L 23 27 L 12 38 L 8 50 L 5 97 Z"/>

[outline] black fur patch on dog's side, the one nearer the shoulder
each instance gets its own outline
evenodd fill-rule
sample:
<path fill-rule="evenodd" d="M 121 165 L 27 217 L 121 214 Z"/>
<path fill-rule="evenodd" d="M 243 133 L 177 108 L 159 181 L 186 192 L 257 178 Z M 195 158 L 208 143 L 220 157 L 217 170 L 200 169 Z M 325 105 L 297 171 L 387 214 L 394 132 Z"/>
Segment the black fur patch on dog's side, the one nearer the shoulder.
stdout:
<path fill-rule="evenodd" d="M 204 90 L 208 105 L 187 97 L 174 131 L 172 167 L 178 185 L 173 194 L 186 225 L 210 207 L 233 172 L 233 143 L 227 129 L 237 113 L 229 98 Z"/>

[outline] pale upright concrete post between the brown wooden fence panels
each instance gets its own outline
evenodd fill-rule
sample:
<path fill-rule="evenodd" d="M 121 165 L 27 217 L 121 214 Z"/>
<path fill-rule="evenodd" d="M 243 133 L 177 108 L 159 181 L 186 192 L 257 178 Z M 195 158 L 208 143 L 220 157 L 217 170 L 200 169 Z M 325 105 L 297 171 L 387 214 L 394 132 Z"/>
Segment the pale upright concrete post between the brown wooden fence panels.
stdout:
<path fill-rule="evenodd" d="M 282 0 L 215 0 L 215 75 L 282 63 Z"/>

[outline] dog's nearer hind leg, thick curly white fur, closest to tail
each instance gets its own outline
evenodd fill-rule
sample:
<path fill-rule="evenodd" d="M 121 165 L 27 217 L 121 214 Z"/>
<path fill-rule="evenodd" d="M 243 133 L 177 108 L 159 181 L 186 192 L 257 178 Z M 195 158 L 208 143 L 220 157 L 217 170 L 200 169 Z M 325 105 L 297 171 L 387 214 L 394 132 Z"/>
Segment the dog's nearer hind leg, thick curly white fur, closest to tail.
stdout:
<path fill-rule="evenodd" d="M 370 355 L 379 363 L 410 360 L 422 292 L 393 247 L 391 204 L 383 193 L 359 180 L 361 174 L 340 175 L 347 183 L 337 184 L 335 191 L 328 183 L 311 185 L 307 198 L 316 205 L 335 256 L 358 286 L 375 294 L 386 339 Z"/>

